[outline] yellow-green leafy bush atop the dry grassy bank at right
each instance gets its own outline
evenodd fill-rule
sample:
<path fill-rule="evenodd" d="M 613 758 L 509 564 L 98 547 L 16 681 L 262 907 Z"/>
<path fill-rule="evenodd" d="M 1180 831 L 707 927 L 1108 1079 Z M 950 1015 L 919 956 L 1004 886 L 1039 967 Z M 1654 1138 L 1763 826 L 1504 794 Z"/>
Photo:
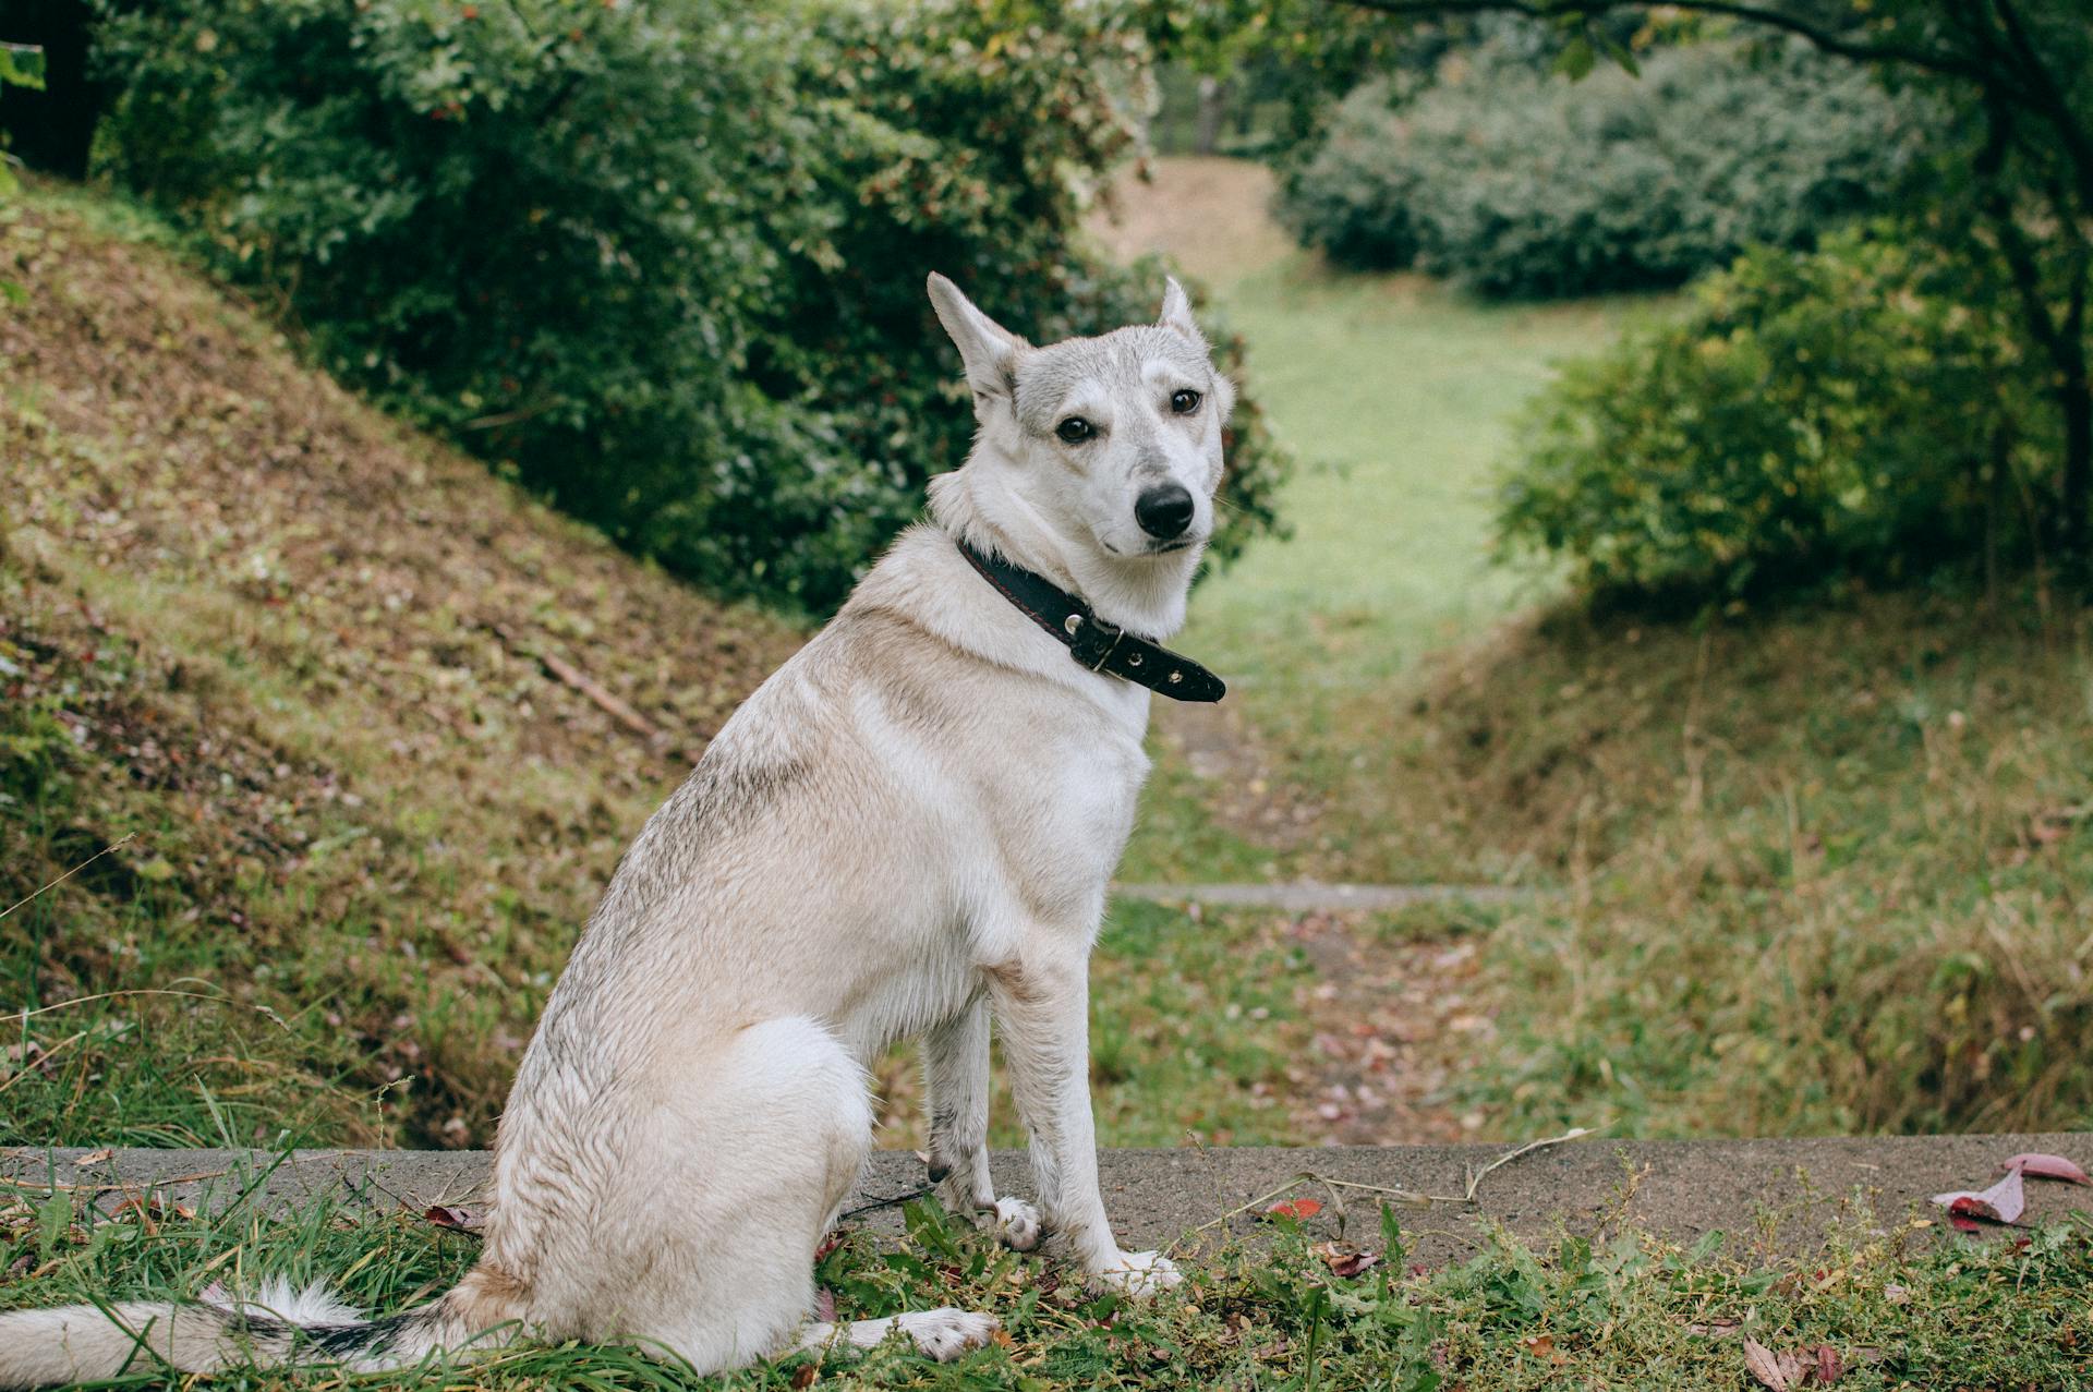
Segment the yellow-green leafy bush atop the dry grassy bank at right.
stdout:
<path fill-rule="evenodd" d="M 2003 289 L 1951 274 L 1886 228 L 1748 253 L 1536 400 L 1505 546 L 1687 594 L 2024 548 L 2055 429 Z"/>

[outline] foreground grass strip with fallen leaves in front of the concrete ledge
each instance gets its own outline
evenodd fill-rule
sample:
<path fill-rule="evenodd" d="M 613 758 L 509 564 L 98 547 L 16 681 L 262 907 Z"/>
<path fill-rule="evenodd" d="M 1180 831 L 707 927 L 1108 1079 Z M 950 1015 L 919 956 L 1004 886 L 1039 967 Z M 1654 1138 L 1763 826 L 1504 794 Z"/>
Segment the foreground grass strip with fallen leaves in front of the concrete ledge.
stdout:
<path fill-rule="evenodd" d="M 1367 1218 L 1371 1222 L 1371 1216 Z M 1379 1258 L 1340 1277 L 1331 1233 L 1281 1220 L 1268 1243 L 1212 1245 L 1191 1279 L 1153 1304 L 1086 1294 L 1055 1262 L 1015 1256 L 906 1212 L 904 1241 L 848 1237 L 818 1266 L 846 1319 L 959 1304 L 992 1310 L 1009 1335 L 954 1365 L 887 1344 L 867 1356 L 795 1354 L 707 1386 L 804 1388 L 1743 1388 L 1746 1340 L 1844 1369 L 1838 1386 L 2066 1388 L 2093 1377 L 2093 1227 L 2083 1218 L 2020 1243 L 1951 1245 L 1913 1222 L 1859 1212 L 1810 1245 L 1769 1256 L 1775 1229 L 1679 1248 L 1601 1225 L 1534 1248 L 1496 1235 L 1467 1262 L 1423 1273 L 1396 1214 L 1350 1233 Z M 1340 1250 L 1342 1252 L 1342 1250 Z M 448 1287 L 477 1239 L 417 1216 L 312 1208 L 184 1218 L 75 1212 L 71 1195 L 0 1204 L 0 1308 L 52 1300 L 182 1298 L 211 1281 L 337 1275 L 350 1300 L 396 1310 Z M 117 1386 L 163 1386 L 142 1367 Z M 213 1388 L 666 1388 L 674 1365 L 632 1348 L 536 1348 L 473 1363 L 350 1375 L 230 1369 Z M 1798 1384 L 1800 1386 L 1800 1384 Z"/>

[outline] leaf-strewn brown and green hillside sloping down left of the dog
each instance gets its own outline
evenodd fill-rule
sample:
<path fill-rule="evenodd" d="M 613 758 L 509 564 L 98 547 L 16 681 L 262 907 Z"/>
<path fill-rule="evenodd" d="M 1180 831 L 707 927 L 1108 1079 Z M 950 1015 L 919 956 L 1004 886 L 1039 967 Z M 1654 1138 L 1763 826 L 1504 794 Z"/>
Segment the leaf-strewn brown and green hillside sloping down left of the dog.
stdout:
<path fill-rule="evenodd" d="M 199 1095 L 237 1141 L 486 1141 L 620 850 L 797 634 L 364 408 L 151 241 L 0 209 L 0 906 L 130 837 L 6 919 L 0 1001 L 239 1005 L 10 1021 L 0 1141 L 195 1141 Z"/>

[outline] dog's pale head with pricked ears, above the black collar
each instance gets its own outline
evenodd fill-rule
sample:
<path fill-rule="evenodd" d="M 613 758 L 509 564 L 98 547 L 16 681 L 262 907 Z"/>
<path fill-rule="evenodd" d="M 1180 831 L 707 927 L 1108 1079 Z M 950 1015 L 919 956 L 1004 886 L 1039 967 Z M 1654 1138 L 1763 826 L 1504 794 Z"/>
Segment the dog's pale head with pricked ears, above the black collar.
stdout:
<path fill-rule="evenodd" d="M 1220 437 L 1235 387 L 1214 371 L 1185 289 L 1153 324 L 1034 347 L 929 278 L 938 320 L 967 362 L 980 444 L 1003 486 L 1061 536 L 1118 561 L 1197 555 L 1214 532 Z"/>

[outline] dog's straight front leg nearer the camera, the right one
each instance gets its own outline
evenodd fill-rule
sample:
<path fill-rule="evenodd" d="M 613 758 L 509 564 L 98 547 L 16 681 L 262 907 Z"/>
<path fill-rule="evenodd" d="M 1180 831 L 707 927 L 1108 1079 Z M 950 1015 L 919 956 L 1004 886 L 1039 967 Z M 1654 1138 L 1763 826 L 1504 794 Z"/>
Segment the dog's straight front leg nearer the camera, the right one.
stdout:
<path fill-rule="evenodd" d="M 1111 1235 L 1097 1185 L 1097 1122 L 1090 1116 L 1090 963 L 1053 942 L 988 971 L 1003 1028 L 1017 1116 L 1032 1132 L 1040 1218 L 1057 1250 L 1103 1285 L 1149 1296 L 1176 1285 L 1157 1252 L 1124 1252 Z"/>

